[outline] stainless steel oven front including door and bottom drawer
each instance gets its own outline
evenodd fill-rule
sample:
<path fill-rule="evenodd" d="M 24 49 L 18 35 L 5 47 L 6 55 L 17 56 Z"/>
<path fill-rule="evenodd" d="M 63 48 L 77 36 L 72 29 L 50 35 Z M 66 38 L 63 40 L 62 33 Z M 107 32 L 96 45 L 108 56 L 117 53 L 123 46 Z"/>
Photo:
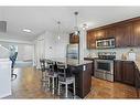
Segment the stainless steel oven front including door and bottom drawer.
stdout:
<path fill-rule="evenodd" d="M 95 60 L 95 76 L 114 82 L 114 60 Z"/>

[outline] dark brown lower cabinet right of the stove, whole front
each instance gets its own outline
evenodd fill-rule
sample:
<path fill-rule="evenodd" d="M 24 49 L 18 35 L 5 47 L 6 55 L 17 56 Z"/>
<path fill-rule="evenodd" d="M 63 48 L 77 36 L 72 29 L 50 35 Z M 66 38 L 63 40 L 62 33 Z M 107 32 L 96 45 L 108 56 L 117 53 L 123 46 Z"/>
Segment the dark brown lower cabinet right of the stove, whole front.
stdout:
<path fill-rule="evenodd" d="M 134 85 L 134 63 L 132 61 L 115 61 L 115 81 Z"/>

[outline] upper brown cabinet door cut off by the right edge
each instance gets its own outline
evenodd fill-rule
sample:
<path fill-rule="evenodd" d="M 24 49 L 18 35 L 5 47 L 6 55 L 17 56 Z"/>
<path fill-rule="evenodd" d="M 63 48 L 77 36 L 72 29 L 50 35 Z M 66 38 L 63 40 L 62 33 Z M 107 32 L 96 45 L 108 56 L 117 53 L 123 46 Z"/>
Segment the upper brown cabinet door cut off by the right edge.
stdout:
<path fill-rule="evenodd" d="M 140 46 L 140 20 L 133 22 L 134 46 Z"/>

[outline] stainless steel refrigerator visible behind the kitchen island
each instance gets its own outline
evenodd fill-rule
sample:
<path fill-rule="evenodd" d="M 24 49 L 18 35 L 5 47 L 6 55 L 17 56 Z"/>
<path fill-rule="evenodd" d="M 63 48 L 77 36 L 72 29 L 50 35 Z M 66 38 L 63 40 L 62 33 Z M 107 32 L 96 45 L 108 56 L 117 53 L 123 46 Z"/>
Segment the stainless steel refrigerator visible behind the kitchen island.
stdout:
<path fill-rule="evenodd" d="M 66 57 L 79 60 L 79 44 L 67 44 Z"/>

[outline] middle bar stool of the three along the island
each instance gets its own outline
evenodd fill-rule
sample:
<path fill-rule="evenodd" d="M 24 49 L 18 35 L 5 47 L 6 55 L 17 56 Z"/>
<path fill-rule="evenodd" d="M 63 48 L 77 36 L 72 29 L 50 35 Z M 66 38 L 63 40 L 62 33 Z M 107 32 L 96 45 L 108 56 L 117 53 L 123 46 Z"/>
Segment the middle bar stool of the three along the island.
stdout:
<path fill-rule="evenodd" d="M 47 61 L 46 62 L 49 65 L 50 65 L 50 69 L 49 69 L 49 87 L 51 88 L 50 84 L 51 84 L 51 81 L 52 80 L 52 91 L 53 91 L 53 94 L 54 94 L 54 91 L 57 90 L 57 73 L 54 72 L 54 62 L 53 61 Z M 56 84 L 56 86 L 55 86 Z"/>

